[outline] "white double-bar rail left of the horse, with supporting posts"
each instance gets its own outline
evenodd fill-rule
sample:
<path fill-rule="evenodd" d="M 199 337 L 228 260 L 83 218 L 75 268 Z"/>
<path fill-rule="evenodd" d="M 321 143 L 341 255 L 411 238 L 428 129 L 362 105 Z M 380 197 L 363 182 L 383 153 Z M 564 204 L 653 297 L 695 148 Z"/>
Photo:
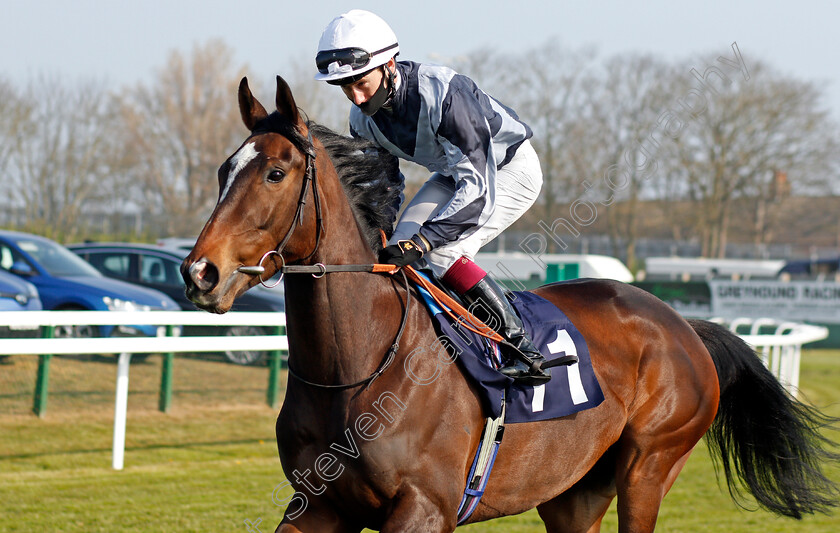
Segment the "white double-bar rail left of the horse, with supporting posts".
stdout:
<path fill-rule="evenodd" d="M 166 336 L 167 326 L 284 326 L 284 313 L 236 312 L 213 315 L 191 311 L 109 312 L 109 311 L 27 311 L 0 312 L 0 326 L 13 329 L 54 328 L 56 326 L 130 326 L 150 325 L 158 328 L 157 337 L 103 337 L 103 338 L 0 338 L 0 355 L 41 356 L 36 384 L 36 403 L 40 395 L 45 401 L 49 376 L 49 357 L 65 354 L 117 353 L 117 386 L 114 402 L 114 441 L 112 467 L 122 470 L 125 457 L 125 422 L 128 405 L 128 371 L 133 353 L 217 352 L 220 350 L 272 350 L 287 351 L 285 335 L 253 336 Z M 171 328 L 170 328 L 171 329 Z M 171 365 L 171 359 L 170 363 Z M 279 359 L 274 358 L 269 377 L 271 387 L 276 387 Z M 164 373 L 166 373 L 164 362 Z M 166 381 L 164 379 L 163 381 Z M 276 395 L 276 391 L 275 391 Z M 37 409 L 37 408 L 36 408 Z"/>

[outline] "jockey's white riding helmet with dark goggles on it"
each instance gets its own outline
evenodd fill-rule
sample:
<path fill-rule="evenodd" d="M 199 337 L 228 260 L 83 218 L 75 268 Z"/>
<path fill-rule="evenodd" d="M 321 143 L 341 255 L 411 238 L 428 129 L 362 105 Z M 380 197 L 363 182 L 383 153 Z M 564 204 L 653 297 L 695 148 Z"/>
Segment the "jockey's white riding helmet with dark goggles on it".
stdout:
<path fill-rule="evenodd" d="M 333 85 L 351 83 L 399 52 L 397 36 L 387 22 L 370 11 L 354 9 L 334 18 L 321 34 L 315 79 Z"/>

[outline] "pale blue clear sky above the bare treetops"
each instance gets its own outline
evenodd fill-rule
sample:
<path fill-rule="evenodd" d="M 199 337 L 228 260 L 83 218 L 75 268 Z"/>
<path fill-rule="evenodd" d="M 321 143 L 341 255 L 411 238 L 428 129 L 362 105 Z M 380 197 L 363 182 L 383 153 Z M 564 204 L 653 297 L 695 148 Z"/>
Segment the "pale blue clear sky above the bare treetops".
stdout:
<path fill-rule="evenodd" d="M 817 84 L 840 119 L 840 3 L 813 0 L 0 0 L 0 78 L 57 75 L 117 88 L 154 75 L 172 50 L 221 38 L 265 83 L 314 58 L 327 23 L 353 8 L 383 17 L 400 57 L 415 61 L 445 63 L 480 48 L 516 53 L 549 39 L 601 55 L 732 57 L 737 42 L 748 67 L 760 59 Z"/>

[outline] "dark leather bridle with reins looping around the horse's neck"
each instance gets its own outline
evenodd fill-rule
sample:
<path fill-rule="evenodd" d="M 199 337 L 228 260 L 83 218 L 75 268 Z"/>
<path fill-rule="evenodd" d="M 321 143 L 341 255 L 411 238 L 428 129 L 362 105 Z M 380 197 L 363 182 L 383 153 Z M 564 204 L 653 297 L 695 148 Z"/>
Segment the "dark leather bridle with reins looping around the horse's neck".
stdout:
<path fill-rule="evenodd" d="M 308 126 L 308 124 L 307 124 Z M 315 204 L 315 246 L 312 248 L 312 251 L 306 257 L 302 257 L 300 261 L 304 261 L 309 259 L 315 252 L 318 251 L 318 246 L 321 243 L 321 233 L 323 231 L 324 220 L 321 215 L 321 197 L 318 194 L 318 170 L 315 165 L 315 144 L 312 140 L 312 131 L 307 128 L 307 140 L 309 145 L 305 147 L 302 151 L 306 157 L 306 171 L 303 177 L 303 183 L 301 184 L 300 188 L 300 196 L 298 198 L 297 208 L 295 210 L 295 216 L 292 218 L 292 224 L 289 226 L 289 230 L 286 232 L 286 235 L 280 241 L 280 244 L 273 250 L 269 250 L 263 254 L 262 258 L 260 258 L 259 263 L 254 266 L 241 266 L 236 270 L 243 274 L 250 274 L 259 276 L 260 283 L 264 287 L 272 288 L 276 287 L 281 281 L 283 281 L 283 276 L 286 274 L 311 274 L 314 278 L 322 278 L 326 274 L 331 272 L 372 272 L 372 273 L 388 273 L 394 274 L 397 269 L 394 265 L 378 265 L 378 264 L 363 264 L 363 265 L 325 265 L 323 263 L 316 263 L 314 265 L 287 265 L 286 260 L 283 257 L 283 250 L 286 248 L 286 245 L 289 243 L 289 240 L 292 238 L 292 234 L 295 232 L 298 226 L 303 226 L 303 215 L 304 209 L 306 207 L 306 190 L 307 187 L 311 185 L 312 187 L 312 196 L 314 198 L 313 203 Z M 278 269 L 280 272 L 280 277 L 275 281 L 273 284 L 269 285 L 265 282 L 262 275 L 265 273 L 265 267 L 263 263 L 269 257 L 277 256 L 280 258 L 282 265 Z M 408 322 L 408 313 L 409 309 L 411 308 L 411 289 L 408 283 L 408 278 L 405 275 L 405 272 L 399 270 L 400 274 L 402 274 L 403 278 L 403 286 L 405 287 L 405 310 L 403 312 L 402 320 L 400 322 L 399 330 L 397 331 L 397 335 L 394 338 L 394 342 L 388 348 L 388 351 L 385 353 L 385 357 L 382 359 L 382 362 L 379 363 L 377 369 L 370 374 L 368 377 L 364 379 L 360 379 L 359 381 L 353 383 L 346 383 L 346 384 L 337 384 L 337 385 L 327 385 L 322 383 L 315 383 L 313 381 L 309 381 L 304 379 L 297 373 L 292 370 L 291 364 L 288 365 L 289 375 L 301 381 L 307 385 L 312 387 L 322 388 L 322 389 L 350 389 L 354 387 L 358 387 L 360 385 L 365 385 L 365 388 L 370 387 L 371 383 L 381 376 L 385 370 L 391 366 L 391 363 L 394 362 L 396 357 L 397 351 L 400 348 L 400 339 L 402 339 L 403 332 L 405 331 L 406 323 Z M 291 360 L 289 361 L 291 363 Z"/>

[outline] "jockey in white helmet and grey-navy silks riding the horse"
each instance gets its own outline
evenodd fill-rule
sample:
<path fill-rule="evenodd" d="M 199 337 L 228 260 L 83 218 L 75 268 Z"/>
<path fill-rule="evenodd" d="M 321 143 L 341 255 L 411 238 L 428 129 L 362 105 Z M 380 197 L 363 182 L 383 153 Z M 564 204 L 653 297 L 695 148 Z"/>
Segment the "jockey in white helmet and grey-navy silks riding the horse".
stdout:
<path fill-rule="evenodd" d="M 528 384 L 551 379 L 545 358 L 496 284 L 473 257 L 536 201 L 542 186 L 531 129 L 452 69 L 397 62 L 400 47 L 377 15 L 352 10 L 330 22 L 318 44 L 315 79 L 353 102 L 350 133 L 432 172 L 406 206 L 379 261 L 425 259 L 437 277 L 484 311 L 517 350 L 501 372 Z M 505 348 L 503 347 L 503 350 Z M 577 362 L 567 357 L 565 364 Z"/>

